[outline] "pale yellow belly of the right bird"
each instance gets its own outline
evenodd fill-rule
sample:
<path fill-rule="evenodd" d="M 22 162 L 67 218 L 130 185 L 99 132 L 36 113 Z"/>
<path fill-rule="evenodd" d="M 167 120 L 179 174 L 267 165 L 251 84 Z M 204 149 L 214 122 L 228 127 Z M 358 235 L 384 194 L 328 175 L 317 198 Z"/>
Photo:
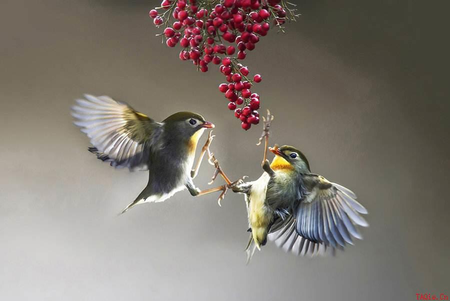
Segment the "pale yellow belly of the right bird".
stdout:
<path fill-rule="evenodd" d="M 259 179 L 252 183 L 249 195 L 248 222 L 253 239 L 258 247 L 265 240 L 267 227 L 271 219 L 270 208 L 265 203 L 265 193 L 269 178 L 267 173 L 263 173 Z"/>

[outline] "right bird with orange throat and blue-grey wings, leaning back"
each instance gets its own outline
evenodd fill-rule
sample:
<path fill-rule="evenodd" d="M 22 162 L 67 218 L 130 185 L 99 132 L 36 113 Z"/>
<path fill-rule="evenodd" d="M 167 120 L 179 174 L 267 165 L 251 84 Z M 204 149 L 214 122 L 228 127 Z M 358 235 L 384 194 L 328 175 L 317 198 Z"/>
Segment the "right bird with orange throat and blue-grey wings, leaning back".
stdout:
<path fill-rule="evenodd" d="M 367 210 L 352 191 L 311 173 L 306 157 L 292 146 L 269 150 L 275 157 L 263 162 L 261 177 L 233 187 L 247 204 L 247 260 L 267 238 L 297 255 L 343 248 L 353 244 L 352 237 L 362 238 L 356 225 L 368 226 L 360 215 Z"/>

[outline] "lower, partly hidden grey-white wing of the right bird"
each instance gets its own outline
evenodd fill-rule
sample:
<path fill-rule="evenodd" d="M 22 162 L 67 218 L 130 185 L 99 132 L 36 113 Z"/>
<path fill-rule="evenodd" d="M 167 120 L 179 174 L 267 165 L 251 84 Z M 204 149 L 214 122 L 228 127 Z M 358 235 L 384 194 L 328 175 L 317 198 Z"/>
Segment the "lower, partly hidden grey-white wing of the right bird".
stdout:
<path fill-rule="evenodd" d="M 286 252 L 295 255 L 323 255 L 326 246 L 318 242 L 312 242 L 304 238 L 295 231 L 295 218 L 289 215 L 284 220 L 278 217 L 270 227 L 268 239 L 275 242 L 275 245 Z"/>

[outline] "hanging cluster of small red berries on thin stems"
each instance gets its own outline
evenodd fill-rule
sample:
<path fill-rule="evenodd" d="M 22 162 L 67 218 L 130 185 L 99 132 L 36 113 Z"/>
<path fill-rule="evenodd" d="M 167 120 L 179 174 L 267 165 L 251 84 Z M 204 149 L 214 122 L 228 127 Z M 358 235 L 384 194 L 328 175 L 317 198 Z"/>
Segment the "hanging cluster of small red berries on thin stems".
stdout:
<path fill-rule="evenodd" d="M 259 96 L 250 89 L 262 78 L 256 74 L 249 79 L 247 67 L 238 61 L 271 24 L 282 30 L 286 20 L 295 20 L 294 8 L 282 0 L 163 0 L 149 15 L 157 27 L 164 26 L 161 35 L 168 47 L 181 45 L 180 60 L 192 61 L 201 72 L 211 62 L 220 65 L 228 84 L 220 84 L 219 90 L 244 130 L 259 123 Z"/>

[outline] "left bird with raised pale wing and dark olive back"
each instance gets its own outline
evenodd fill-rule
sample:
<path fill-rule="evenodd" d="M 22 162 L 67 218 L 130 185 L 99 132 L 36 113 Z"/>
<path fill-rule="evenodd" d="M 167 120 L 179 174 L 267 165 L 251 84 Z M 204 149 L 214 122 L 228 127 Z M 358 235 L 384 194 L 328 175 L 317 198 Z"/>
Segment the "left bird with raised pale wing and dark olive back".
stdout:
<path fill-rule="evenodd" d="M 192 170 L 198 139 L 214 127 L 199 114 L 178 112 L 156 122 L 125 103 L 92 95 L 76 100 L 71 114 L 98 159 L 115 168 L 149 171 L 147 186 L 121 213 L 144 202 L 162 202 L 185 188 L 193 196 L 223 188 L 202 192 L 192 181 L 205 151 Z M 209 135 L 207 143 L 211 139 Z"/>

